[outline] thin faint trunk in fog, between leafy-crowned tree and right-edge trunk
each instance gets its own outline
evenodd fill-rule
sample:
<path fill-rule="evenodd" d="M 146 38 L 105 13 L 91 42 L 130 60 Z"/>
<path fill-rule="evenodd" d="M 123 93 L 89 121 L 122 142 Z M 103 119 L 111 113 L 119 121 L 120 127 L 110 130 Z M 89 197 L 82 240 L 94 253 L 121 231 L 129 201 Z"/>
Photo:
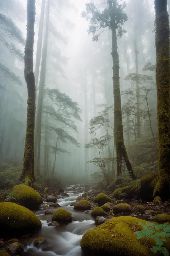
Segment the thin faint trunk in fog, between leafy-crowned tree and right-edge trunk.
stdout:
<path fill-rule="evenodd" d="M 134 52 L 135 52 L 135 69 L 136 69 L 136 134 L 137 139 L 141 137 L 141 116 L 140 116 L 140 89 L 139 89 L 139 68 L 138 68 L 138 50 L 136 41 L 134 42 Z"/>

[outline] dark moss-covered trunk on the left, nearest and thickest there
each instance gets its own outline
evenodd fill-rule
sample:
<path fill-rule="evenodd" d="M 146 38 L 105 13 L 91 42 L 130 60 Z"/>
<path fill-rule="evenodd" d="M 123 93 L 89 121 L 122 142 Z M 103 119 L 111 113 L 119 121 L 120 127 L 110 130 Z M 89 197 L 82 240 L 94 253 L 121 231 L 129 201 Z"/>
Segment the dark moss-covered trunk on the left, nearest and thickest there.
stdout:
<path fill-rule="evenodd" d="M 34 177 L 34 127 L 35 127 L 35 101 L 36 87 L 33 72 L 33 46 L 34 46 L 34 24 L 35 24 L 35 0 L 27 0 L 27 38 L 25 44 L 25 81 L 28 90 L 27 100 L 27 123 L 23 167 L 20 181 L 31 185 Z"/>

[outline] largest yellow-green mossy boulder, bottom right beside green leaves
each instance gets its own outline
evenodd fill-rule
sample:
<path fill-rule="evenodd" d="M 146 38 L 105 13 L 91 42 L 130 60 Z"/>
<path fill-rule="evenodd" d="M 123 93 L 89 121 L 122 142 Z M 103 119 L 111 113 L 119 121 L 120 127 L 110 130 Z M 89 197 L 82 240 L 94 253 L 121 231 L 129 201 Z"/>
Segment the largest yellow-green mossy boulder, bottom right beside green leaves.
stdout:
<path fill-rule="evenodd" d="M 153 238 L 137 239 L 134 231 L 141 231 L 140 221 L 131 216 L 114 217 L 100 226 L 88 230 L 81 239 L 81 250 L 90 255 L 115 256 L 154 256 L 150 248 L 156 246 Z M 166 238 L 164 247 L 170 253 L 170 238 Z M 161 255 L 158 253 L 157 255 Z"/>

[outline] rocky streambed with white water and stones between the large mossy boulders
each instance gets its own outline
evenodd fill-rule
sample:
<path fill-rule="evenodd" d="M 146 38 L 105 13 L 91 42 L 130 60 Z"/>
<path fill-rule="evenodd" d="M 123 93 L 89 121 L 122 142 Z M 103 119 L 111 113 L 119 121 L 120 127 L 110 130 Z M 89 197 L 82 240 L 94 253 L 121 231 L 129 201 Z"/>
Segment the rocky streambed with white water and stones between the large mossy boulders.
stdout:
<path fill-rule="evenodd" d="M 87 191 L 87 189 L 84 190 Z M 80 247 L 82 236 L 87 230 L 95 228 L 99 224 L 104 223 L 106 220 L 111 219 L 112 221 L 113 219 L 116 220 L 116 217 L 131 216 L 135 217 L 132 219 L 133 221 L 136 218 L 155 221 L 155 216 L 160 216 L 160 214 L 166 214 L 166 216 L 170 217 L 170 204 L 168 204 L 168 202 L 164 204 L 162 202 L 142 202 L 141 200 L 136 200 L 135 198 L 132 200 L 118 199 L 113 198 L 112 195 L 109 195 L 111 199 L 107 199 L 107 203 L 104 202 L 105 200 L 102 201 L 103 199 L 100 199 L 100 203 L 100 200 L 95 198 L 96 195 L 97 193 L 92 191 L 83 193 L 82 188 L 74 188 L 73 190 L 73 188 L 70 187 L 66 188 L 66 191 L 62 191 L 59 195 L 54 194 L 55 197 L 52 195 L 47 197 L 43 200 L 43 204 L 41 204 L 39 209 L 33 211 L 41 221 L 41 229 L 39 229 L 39 231 L 33 235 L 26 235 L 18 239 L 18 241 L 13 240 L 8 242 L 2 239 L 0 241 L 0 247 L 3 249 L 3 251 L 0 250 L 0 256 L 80 256 L 82 255 Z M 84 207 L 85 209 L 86 206 L 84 204 L 87 203 L 85 200 L 88 200 L 91 203 L 91 209 L 89 209 L 88 206 L 87 210 L 76 210 L 77 208 L 81 207 Z M 77 205 L 76 202 L 80 202 L 80 205 Z M 61 208 L 71 214 L 71 223 L 60 223 L 60 225 L 58 225 L 58 223 L 52 219 L 54 212 Z M 121 221 L 121 223 L 124 223 L 126 219 L 122 219 Z M 133 231 L 135 231 L 135 229 Z M 91 234 L 89 233 L 87 240 L 89 239 L 90 235 Z M 92 237 L 94 237 L 93 234 Z M 112 237 L 117 237 L 117 234 L 112 234 Z M 15 237 L 13 238 L 15 239 Z M 17 242 L 19 242 L 22 246 L 18 249 L 18 251 L 14 246 L 14 243 Z M 10 247 L 10 244 L 13 244 L 12 248 Z M 7 247 L 9 248 L 6 249 Z M 86 247 L 86 245 L 84 247 Z M 3 254 L 6 253 L 6 251 L 10 254 Z M 152 255 L 150 253 L 151 252 L 148 252 L 148 255 Z M 85 255 L 90 254 L 89 252 L 85 252 Z M 95 254 L 92 253 L 91 255 Z M 105 253 L 105 255 L 109 254 Z"/>

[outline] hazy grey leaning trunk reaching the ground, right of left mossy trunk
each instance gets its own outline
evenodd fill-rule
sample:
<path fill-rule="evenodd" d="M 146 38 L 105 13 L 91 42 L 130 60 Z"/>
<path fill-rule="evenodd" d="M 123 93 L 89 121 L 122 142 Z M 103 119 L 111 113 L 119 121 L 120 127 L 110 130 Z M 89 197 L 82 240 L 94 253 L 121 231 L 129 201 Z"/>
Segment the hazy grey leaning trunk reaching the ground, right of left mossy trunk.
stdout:
<path fill-rule="evenodd" d="M 47 63 L 47 48 L 48 48 L 48 29 L 49 29 L 49 8 L 50 0 L 47 2 L 47 15 L 46 15 L 46 31 L 44 34 L 44 43 L 41 60 L 41 72 L 39 81 L 39 94 L 38 94 L 38 106 L 36 116 L 36 130 L 35 130 L 35 155 L 36 155 L 36 171 L 37 175 L 40 175 L 40 145 L 41 145 L 41 121 L 42 121 L 42 105 L 43 95 L 46 79 L 46 63 Z"/>

